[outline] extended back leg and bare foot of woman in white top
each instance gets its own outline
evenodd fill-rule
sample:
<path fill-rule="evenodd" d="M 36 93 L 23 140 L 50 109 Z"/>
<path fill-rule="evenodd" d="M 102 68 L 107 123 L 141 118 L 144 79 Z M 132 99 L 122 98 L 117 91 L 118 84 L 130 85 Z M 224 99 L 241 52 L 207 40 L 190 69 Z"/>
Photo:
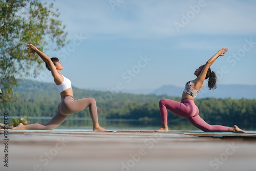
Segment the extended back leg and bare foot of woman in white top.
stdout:
<path fill-rule="evenodd" d="M 12 130 L 53 130 L 55 127 L 60 125 L 69 115 L 61 115 L 56 113 L 56 115 L 46 124 L 34 123 L 29 125 L 23 125 L 19 123 L 18 126 L 13 127 Z"/>

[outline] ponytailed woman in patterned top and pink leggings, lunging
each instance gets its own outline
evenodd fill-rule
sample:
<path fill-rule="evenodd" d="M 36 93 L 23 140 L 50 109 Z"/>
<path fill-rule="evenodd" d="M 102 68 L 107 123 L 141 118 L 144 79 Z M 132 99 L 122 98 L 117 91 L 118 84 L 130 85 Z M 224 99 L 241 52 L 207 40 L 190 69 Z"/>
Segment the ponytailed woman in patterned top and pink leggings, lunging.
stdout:
<path fill-rule="evenodd" d="M 160 114 L 162 119 L 162 127 L 156 130 L 156 132 L 168 131 L 167 125 L 167 109 L 175 113 L 176 115 L 185 117 L 190 123 L 198 127 L 204 132 L 236 132 L 247 133 L 239 129 L 237 125 L 233 127 L 221 126 L 221 125 L 209 125 L 199 115 L 198 107 L 195 105 L 194 100 L 201 88 L 203 87 L 204 80 L 209 78 L 208 87 L 209 90 L 216 89 L 216 75 L 211 72 L 210 66 L 219 57 L 223 56 L 228 49 L 222 48 L 214 56 L 212 56 L 205 65 L 199 67 L 195 71 L 196 79 L 188 81 L 183 91 L 181 102 L 161 99 L 159 101 Z"/>

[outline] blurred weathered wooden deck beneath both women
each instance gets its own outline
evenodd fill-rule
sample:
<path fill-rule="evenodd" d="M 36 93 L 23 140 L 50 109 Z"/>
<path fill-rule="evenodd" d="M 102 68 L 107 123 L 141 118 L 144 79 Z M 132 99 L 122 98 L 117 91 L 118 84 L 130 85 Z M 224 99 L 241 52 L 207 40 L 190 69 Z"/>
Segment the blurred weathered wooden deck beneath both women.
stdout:
<path fill-rule="evenodd" d="M 8 167 L 1 143 L 0 170 L 255 170 L 249 133 L 8 130 Z"/>

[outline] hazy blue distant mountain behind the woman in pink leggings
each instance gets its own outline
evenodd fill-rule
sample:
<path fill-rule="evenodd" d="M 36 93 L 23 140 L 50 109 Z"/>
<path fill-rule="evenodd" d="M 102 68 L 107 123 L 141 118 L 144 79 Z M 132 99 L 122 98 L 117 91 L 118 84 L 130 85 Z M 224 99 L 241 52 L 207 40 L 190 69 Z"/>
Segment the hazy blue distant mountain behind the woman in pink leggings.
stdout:
<path fill-rule="evenodd" d="M 162 86 L 156 89 L 152 94 L 181 97 L 184 87 L 176 86 Z M 217 85 L 217 89 L 209 90 L 207 85 L 204 85 L 199 92 L 197 98 L 233 98 L 233 99 L 255 99 L 256 98 L 256 86 L 250 85 Z"/>

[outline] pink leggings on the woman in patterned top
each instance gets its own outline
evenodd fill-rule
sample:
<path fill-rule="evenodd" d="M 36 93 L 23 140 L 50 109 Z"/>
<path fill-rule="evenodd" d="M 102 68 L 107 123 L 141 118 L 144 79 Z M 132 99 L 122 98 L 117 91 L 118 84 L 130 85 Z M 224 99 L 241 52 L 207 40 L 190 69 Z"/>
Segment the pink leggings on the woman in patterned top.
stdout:
<path fill-rule="evenodd" d="M 187 118 L 194 126 L 204 132 L 229 132 L 230 127 L 209 125 L 199 115 L 199 110 L 193 100 L 182 99 L 181 102 L 162 99 L 159 101 L 162 124 L 167 124 L 167 109 L 176 115 Z"/>

